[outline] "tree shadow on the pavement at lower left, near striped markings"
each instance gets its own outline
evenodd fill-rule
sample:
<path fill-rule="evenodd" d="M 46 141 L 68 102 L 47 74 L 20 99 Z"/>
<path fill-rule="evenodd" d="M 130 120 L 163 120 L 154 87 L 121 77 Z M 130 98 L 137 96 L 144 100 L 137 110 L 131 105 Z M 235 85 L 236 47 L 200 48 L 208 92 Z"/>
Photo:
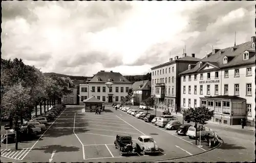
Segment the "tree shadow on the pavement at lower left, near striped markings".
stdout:
<path fill-rule="evenodd" d="M 44 151 L 45 153 L 52 153 L 52 151 L 56 150 L 56 153 L 57 153 L 57 152 L 79 151 L 80 149 L 72 146 L 67 147 L 67 146 L 61 146 L 61 145 L 49 145 L 41 148 L 34 148 L 33 150 L 41 150 L 41 151 Z"/>

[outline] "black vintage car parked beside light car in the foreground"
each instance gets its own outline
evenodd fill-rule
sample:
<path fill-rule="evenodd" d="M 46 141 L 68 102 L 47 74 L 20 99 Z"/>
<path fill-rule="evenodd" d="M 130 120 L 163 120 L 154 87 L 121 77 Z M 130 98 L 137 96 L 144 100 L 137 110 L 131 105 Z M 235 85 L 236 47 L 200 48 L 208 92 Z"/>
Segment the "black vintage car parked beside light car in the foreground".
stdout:
<path fill-rule="evenodd" d="M 137 154 L 136 147 L 133 146 L 133 139 L 129 134 L 117 134 L 114 142 L 116 149 L 119 149 L 120 154 Z"/>

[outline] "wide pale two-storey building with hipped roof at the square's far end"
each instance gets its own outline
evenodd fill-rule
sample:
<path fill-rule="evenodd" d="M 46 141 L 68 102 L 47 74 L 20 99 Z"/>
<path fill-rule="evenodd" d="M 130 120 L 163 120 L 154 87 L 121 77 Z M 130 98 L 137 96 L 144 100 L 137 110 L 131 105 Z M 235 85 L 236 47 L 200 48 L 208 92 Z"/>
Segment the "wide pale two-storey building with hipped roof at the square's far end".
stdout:
<path fill-rule="evenodd" d="M 111 88 L 106 86 L 105 83 L 107 82 L 113 83 Z M 83 104 L 83 100 L 91 96 L 95 96 L 106 103 L 120 103 L 121 98 L 127 96 L 132 84 L 119 72 L 105 72 L 102 70 L 94 75 L 88 84 L 79 85 L 79 103 Z"/>

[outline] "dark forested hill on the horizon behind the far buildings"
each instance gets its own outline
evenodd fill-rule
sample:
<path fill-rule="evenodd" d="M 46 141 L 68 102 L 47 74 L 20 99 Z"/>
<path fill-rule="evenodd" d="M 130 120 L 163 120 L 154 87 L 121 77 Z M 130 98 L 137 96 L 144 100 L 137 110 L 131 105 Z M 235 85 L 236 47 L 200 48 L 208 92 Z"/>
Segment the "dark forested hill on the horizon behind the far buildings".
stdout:
<path fill-rule="evenodd" d="M 59 77 L 69 77 L 72 80 L 86 80 L 87 76 L 72 76 L 72 75 L 65 75 L 65 74 L 60 74 L 60 73 L 54 73 L 54 72 L 46 72 L 44 73 L 46 76 L 51 76 L 51 75 L 56 75 Z M 138 82 L 141 80 L 151 80 L 151 73 L 147 73 L 145 75 L 124 75 L 127 80 L 130 82 Z"/>

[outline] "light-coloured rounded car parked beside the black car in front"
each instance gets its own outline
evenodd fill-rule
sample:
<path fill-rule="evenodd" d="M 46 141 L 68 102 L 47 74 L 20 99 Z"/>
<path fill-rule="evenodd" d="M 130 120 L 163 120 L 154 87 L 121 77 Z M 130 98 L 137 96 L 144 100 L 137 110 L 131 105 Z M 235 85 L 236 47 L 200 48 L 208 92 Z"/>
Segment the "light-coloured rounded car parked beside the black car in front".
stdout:
<path fill-rule="evenodd" d="M 138 142 L 136 143 L 137 149 L 143 152 L 143 154 L 147 153 L 158 153 L 159 148 L 155 144 L 154 139 L 151 136 L 142 135 L 138 138 Z"/>

